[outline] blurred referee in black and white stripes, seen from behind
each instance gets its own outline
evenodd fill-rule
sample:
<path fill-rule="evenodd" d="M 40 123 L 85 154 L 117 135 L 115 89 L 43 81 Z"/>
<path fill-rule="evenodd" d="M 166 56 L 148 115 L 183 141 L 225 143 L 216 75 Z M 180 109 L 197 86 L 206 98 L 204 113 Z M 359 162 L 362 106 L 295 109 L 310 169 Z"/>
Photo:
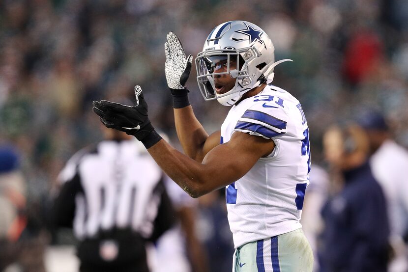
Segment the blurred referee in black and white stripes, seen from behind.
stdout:
<path fill-rule="evenodd" d="M 59 174 L 54 226 L 73 227 L 81 272 L 148 272 L 146 241 L 175 221 L 163 174 L 133 136 L 104 128 Z"/>

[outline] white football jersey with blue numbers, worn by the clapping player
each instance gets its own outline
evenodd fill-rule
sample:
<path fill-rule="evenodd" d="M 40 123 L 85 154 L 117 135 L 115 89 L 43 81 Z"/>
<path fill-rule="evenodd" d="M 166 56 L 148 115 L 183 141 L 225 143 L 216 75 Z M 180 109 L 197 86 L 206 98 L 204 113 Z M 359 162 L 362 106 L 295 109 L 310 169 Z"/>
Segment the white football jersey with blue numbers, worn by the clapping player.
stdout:
<path fill-rule="evenodd" d="M 310 170 L 306 118 L 299 101 L 287 91 L 267 85 L 233 106 L 221 126 L 221 143 L 236 131 L 273 139 L 276 146 L 226 188 L 235 248 L 302 227 Z"/>

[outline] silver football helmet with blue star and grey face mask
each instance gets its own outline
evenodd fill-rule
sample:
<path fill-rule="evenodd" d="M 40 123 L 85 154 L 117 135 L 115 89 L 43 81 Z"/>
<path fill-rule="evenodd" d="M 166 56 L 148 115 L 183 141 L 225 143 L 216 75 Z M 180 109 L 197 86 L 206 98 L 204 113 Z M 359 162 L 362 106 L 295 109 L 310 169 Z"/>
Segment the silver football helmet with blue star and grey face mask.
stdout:
<path fill-rule="evenodd" d="M 232 106 L 247 91 L 272 82 L 276 65 L 292 60 L 275 62 L 272 41 L 260 27 L 245 21 L 230 21 L 211 31 L 195 61 L 197 82 L 204 99 L 217 99 L 224 106 Z M 216 73 L 221 66 L 226 67 L 224 72 Z M 218 93 L 214 79 L 226 74 L 236 79 L 235 86 Z"/>

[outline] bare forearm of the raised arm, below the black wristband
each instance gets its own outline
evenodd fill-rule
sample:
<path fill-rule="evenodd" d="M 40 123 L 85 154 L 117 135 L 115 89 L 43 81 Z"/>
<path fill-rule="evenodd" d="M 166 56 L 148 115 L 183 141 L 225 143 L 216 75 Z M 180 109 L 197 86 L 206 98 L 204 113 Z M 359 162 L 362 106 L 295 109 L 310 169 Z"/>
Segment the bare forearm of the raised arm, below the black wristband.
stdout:
<path fill-rule="evenodd" d="M 175 129 L 184 153 L 190 158 L 201 162 L 205 155 L 203 154 L 203 147 L 208 134 L 197 120 L 191 106 L 174 109 L 174 114 Z"/>

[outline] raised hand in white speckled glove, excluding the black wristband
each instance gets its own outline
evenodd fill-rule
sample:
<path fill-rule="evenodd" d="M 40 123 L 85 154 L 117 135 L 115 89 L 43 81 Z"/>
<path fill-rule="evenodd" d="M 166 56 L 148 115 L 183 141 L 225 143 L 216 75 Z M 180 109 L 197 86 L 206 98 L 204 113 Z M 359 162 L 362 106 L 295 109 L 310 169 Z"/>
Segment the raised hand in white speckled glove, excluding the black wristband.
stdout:
<path fill-rule="evenodd" d="M 190 76 L 192 55 L 186 57 L 183 46 L 175 33 L 167 34 L 167 42 L 164 44 L 166 53 L 165 72 L 167 85 L 170 89 L 185 89 L 184 85 Z"/>

